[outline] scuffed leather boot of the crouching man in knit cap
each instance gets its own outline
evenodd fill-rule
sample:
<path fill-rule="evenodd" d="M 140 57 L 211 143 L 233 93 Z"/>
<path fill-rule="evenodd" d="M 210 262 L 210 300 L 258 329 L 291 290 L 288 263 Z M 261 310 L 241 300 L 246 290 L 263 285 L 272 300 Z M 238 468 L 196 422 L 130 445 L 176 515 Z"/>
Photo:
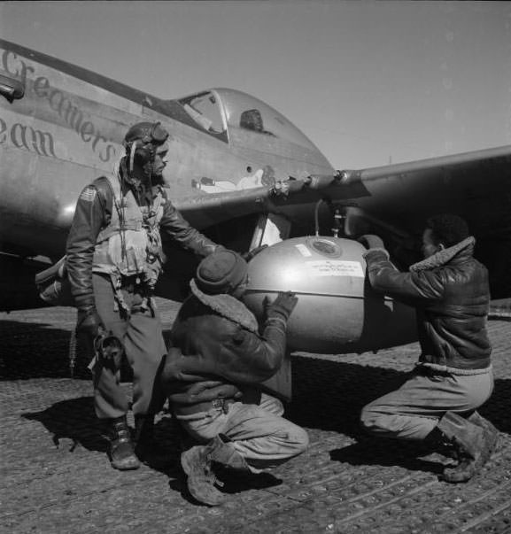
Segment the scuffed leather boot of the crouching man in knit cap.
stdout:
<path fill-rule="evenodd" d="M 215 487 L 219 481 L 213 471 L 214 462 L 233 470 L 250 472 L 244 457 L 225 439 L 221 435 L 215 436 L 207 445 L 196 445 L 181 455 L 191 496 L 210 507 L 225 502 L 225 496 Z"/>

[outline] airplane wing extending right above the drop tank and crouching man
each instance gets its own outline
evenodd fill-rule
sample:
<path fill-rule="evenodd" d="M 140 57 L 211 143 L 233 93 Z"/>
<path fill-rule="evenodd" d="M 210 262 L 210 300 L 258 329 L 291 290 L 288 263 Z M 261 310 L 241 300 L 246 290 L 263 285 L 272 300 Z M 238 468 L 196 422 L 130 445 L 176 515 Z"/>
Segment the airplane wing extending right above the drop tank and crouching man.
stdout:
<path fill-rule="evenodd" d="M 511 296 L 511 145 L 182 198 L 175 205 L 197 228 L 269 211 L 305 217 L 312 232 L 321 199 L 331 210 L 320 212 L 320 233 L 330 233 L 329 216 L 337 212 L 340 235 L 383 236 L 401 267 L 420 259 L 415 244 L 430 215 L 461 215 L 476 236 L 476 256 L 490 269 L 493 298 Z"/>

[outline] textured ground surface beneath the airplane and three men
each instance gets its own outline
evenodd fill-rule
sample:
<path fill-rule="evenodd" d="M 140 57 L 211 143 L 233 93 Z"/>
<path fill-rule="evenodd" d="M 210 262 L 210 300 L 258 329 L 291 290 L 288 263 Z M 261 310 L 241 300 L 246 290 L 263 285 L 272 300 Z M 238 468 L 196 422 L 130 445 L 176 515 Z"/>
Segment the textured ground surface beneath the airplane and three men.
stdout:
<path fill-rule="evenodd" d="M 160 308 L 168 328 L 175 306 Z M 87 362 L 79 356 L 69 375 L 74 321 L 69 308 L 0 313 L 2 533 L 511 532 L 511 322 L 489 323 L 496 383 L 481 413 L 501 435 L 468 484 L 438 481 L 444 457 L 360 436 L 360 408 L 412 367 L 416 344 L 328 360 L 296 354 L 287 415 L 306 427 L 310 449 L 271 476 L 231 482 L 228 503 L 207 508 L 187 497 L 168 414 L 157 431 L 169 468 L 109 467 Z"/>

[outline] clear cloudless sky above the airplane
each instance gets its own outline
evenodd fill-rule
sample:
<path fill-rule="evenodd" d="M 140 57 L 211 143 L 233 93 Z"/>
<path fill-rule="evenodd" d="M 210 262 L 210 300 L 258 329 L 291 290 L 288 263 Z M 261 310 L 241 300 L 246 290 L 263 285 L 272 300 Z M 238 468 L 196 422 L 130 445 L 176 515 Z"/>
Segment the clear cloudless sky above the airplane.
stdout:
<path fill-rule="evenodd" d="M 0 35 L 158 97 L 244 90 L 336 168 L 511 144 L 511 2 L 2 2 Z"/>

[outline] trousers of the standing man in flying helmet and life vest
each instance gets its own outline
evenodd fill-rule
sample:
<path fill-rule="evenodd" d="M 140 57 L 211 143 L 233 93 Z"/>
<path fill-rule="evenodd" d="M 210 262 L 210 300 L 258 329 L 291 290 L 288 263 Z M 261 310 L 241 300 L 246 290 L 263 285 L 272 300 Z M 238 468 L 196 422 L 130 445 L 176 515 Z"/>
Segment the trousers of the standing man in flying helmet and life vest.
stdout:
<path fill-rule="evenodd" d="M 105 328 L 118 337 L 133 369 L 134 415 L 157 414 L 165 403 L 157 375 L 166 354 L 161 321 L 156 309 L 138 310 L 141 295 L 121 290 L 129 316 L 116 306 L 115 293 L 108 276 L 93 274 L 97 313 Z M 98 359 L 90 366 L 94 380 L 94 407 L 100 419 L 113 419 L 127 414 L 128 397 L 120 386 L 120 369 L 104 365 Z"/>

